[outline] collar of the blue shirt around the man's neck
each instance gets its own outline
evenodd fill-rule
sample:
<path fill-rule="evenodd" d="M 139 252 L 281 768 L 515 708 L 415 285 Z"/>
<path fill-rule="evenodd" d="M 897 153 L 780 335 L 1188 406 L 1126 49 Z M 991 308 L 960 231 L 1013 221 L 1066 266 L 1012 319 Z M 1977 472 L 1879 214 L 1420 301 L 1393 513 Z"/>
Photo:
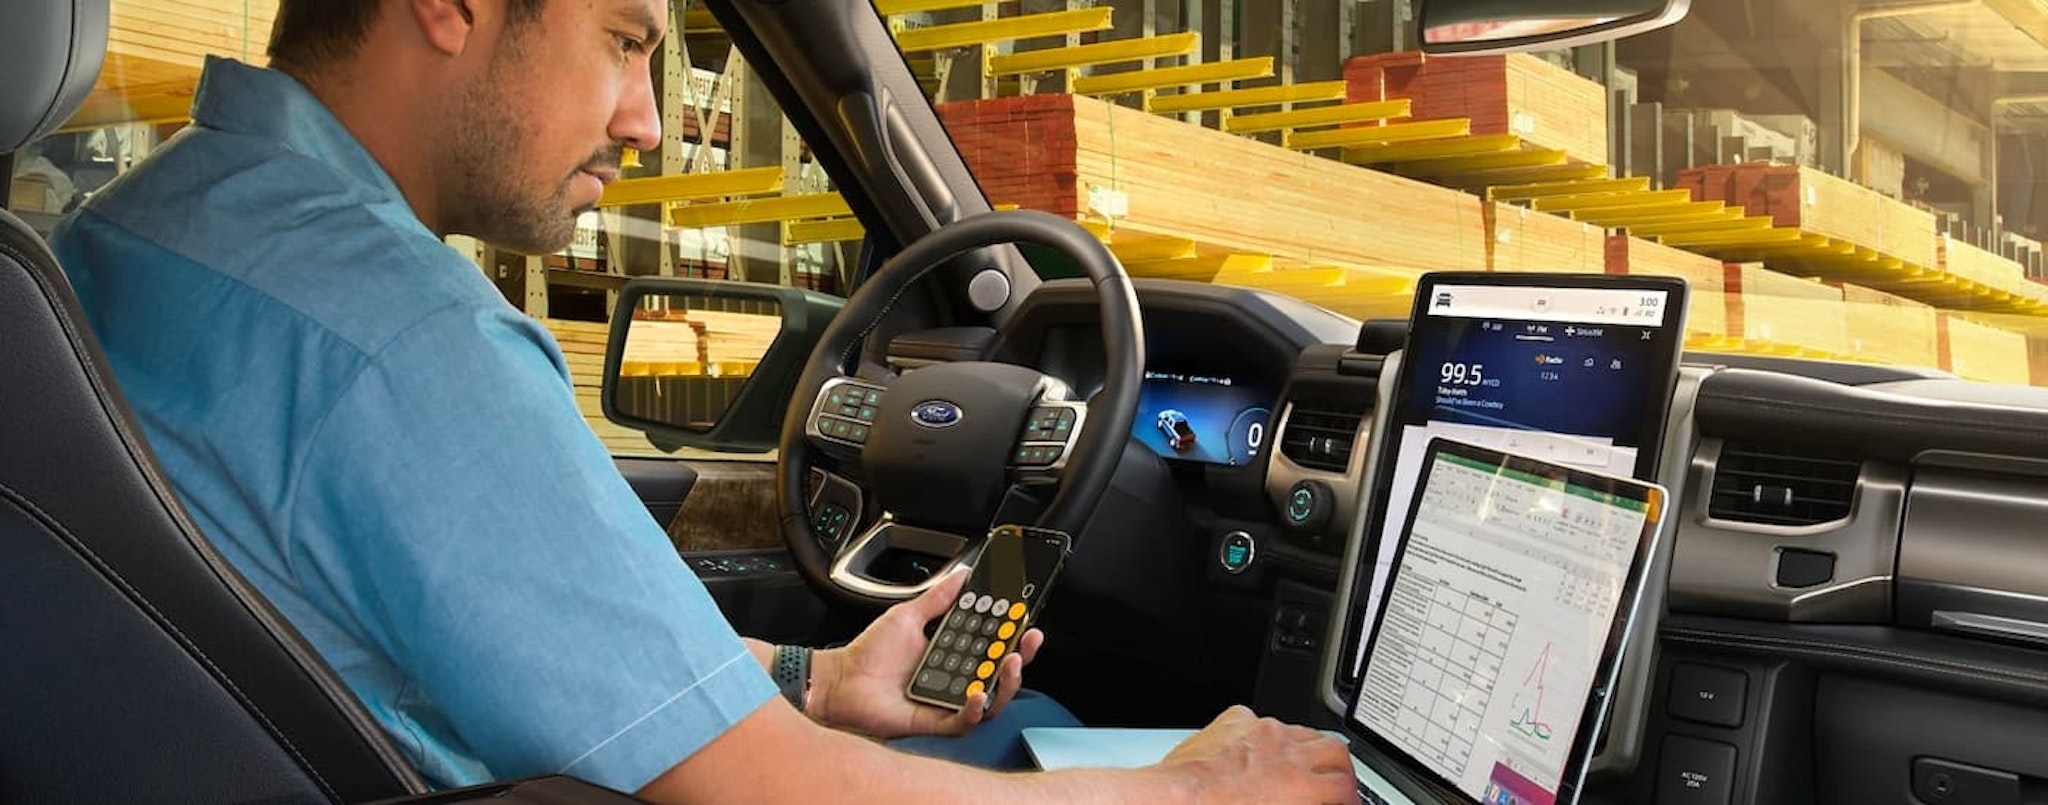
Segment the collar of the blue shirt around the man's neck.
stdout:
<path fill-rule="evenodd" d="M 362 150 L 328 104 L 283 72 L 209 55 L 193 96 L 193 121 L 268 139 L 340 170 L 385 201 L 401 199 L 391 174 Z"/>

